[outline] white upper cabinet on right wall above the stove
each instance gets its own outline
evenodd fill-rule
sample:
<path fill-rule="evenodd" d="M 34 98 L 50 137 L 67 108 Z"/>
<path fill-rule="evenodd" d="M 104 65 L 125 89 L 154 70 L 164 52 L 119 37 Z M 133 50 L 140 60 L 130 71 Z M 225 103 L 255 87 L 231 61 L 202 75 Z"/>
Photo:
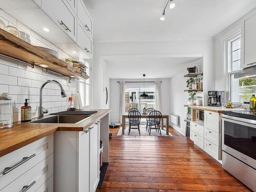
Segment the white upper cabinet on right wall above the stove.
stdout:
<path fill-rule="evenodd" d="M 242 25 L 243 68 L 256 65 L 256 14 L 246 18 Z"/>

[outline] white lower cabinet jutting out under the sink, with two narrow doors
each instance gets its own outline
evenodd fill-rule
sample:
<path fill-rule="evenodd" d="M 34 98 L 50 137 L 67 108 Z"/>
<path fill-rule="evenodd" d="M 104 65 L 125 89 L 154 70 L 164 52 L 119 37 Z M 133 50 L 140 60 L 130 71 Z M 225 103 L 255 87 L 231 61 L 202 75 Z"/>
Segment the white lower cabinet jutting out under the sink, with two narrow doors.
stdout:
<path fill-rule="evenodd" d="M 54 191 L 94 192 L 99 182 L 99 121 L 54 135 Z"/>

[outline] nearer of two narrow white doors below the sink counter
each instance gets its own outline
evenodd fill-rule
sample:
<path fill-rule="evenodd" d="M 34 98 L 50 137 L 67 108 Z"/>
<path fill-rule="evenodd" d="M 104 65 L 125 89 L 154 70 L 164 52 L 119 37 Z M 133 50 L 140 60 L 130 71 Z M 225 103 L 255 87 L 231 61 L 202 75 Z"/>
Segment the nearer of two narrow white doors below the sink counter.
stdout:
<path fill-rule="evenodd" d="M 90 129 L 90 128 L 89 128 Z M 79 133 L 79 190 L 83 192 L 89 192 L 90 178 L 89 178 L 89 166 L 90 166 L 90 133 Z"/>

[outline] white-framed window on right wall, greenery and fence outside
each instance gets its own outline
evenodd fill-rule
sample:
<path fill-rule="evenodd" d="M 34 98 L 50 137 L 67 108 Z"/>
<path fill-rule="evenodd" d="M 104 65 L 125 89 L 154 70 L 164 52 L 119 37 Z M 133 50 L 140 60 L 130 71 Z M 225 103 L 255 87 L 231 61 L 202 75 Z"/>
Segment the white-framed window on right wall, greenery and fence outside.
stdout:
<path fill-rule="evenodd" d="M 241 66 L 241 35 L 233 36 L 228 41 L 228 79 L 230 100 L 233 102 L 249 101 L 256 92 L 256 79 L 234 78 L 234 74 L 242 69 Z"/>

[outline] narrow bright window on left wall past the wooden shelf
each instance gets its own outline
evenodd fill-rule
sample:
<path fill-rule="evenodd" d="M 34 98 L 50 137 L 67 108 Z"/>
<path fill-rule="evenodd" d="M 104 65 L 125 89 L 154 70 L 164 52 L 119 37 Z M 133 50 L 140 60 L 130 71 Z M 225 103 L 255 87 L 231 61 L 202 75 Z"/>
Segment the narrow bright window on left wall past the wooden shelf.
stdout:
<path fill-rule="evenodd" d="M 87 74 L 91 75 L 91 65 L 89 62 L 85 61 L 87 69 Z M 89 79 L 79 80 L 79 93 L 81 95 L 81 101 L 84 108 L 89 109 L 91 106 L 91 77 Z"/>

